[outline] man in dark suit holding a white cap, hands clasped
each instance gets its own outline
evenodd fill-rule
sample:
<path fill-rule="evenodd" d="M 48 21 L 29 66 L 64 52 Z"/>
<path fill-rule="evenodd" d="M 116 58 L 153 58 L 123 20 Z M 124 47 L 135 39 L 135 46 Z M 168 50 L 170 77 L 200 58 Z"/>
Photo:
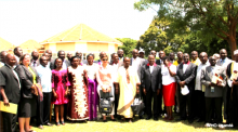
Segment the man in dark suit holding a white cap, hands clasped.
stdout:
<path fill-rule="evenodd" d="M 195 91 L 195 77 L 196 77 L 196 70 L 197 66 L 189 62 L 189 55 L 187 53 L 183 56 L 184 63 L 180 64 L 177 66 L 176 71 L 176 82 L 177 82 L 177 90 L 181 91 L 181 89 L 186 89 L 186 87 L 189 90 L 189 93 L 186 95 L 183 95 L 181 92 L 178 93 L 180 97 L 180 120 L 185 120 L 187 118 L 186 114 L 186 106 L 188 107 L 188 122 L 194 122 L 194 107 L 193 107 L 193 97 L 194 97 L 194 91 Z"/>

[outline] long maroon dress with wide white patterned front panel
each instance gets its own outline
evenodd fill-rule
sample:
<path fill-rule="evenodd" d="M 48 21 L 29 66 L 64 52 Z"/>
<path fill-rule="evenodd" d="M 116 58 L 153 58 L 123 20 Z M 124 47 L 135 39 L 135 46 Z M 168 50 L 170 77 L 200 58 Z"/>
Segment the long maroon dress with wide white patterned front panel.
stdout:
<path fill-rule="evenodd" d="M 69 120 L 89 119 L 89 97 L 88 97 L 88 77 L 84 66 L 78 66 L 76 69 L 68 67 L 68 77 L 70 81 L 70 96 L 68 103 Z"/>

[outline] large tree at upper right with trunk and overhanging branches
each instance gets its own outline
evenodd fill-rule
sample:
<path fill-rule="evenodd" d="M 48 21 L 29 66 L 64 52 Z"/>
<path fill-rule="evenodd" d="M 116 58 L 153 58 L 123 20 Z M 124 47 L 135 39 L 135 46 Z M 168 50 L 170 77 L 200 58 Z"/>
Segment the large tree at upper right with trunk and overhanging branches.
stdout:
<path fill-rule="evenodd" d="M 134 8 L 143 11 L 159 6 L 158 16 L 170 19 L 171 27 L 189 27 L 207 41 L 214 37 L 227 41 L 232 53 L 237 49 L 237 0 L 140 0 Z M 232 54 L 233 56 L 233 54 Z M 233 56 L 234 58 L 234 56 Z"/>

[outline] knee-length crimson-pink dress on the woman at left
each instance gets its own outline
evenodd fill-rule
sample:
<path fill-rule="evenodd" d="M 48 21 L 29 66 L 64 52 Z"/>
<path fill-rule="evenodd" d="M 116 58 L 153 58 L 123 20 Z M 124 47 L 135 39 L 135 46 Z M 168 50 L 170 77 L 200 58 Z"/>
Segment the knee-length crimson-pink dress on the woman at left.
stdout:
<path fill-rule="evenodd" d="M 52 88 L 57 94 L 57 98 L 52 97 L 52 104 L 55 105 L 63 105 L 68 103 L 68 97 L 65 96 L 66 88 L 70 85 L 68 81 L 68 74 L 67 70 L 52 70 Z"/>

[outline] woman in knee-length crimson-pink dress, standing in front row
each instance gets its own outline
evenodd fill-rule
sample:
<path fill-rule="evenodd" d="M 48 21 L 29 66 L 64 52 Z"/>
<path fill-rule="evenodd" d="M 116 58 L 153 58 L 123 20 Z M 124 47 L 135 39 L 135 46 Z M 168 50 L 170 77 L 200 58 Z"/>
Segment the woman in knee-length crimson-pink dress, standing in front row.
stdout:
<path fill-rule="evenodd" d="M 65 124 L 64 121 L 64 104 L 68 103 L 68 87 L 70 85 L 68 81 L 67 70 L 63 69 L 63 63 L 61 58 L 55 60 L 55 69 L 52 70 L 52 92 L 53 101 L 52 104 L 55 106 L 55 121 L 56 126 L 60 126 L 58 113 L 61 110 L 61 121 L 62 124 Z"/>

